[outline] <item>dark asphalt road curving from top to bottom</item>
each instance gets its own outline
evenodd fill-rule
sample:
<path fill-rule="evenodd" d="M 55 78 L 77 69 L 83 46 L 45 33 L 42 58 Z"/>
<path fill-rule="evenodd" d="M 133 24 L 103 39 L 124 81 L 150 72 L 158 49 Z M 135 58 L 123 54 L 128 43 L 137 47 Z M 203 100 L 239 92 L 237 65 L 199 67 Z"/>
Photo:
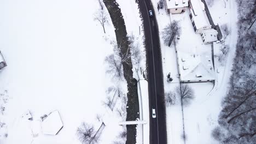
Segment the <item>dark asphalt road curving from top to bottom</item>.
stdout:
<path fill-rule="evenodd" d="M 164 82 L 162 75 L 162 59 L 159 46 L 159 31 L 155 16 L 149 17 L 153 10 L 150 0 L 139 0 L 147 49 L 147 70 L 150 110 L 150 144 L 166 144 L 166 117 L 164 101 Z M 153 10 L 154 11 L 154 10 Z M 156 109 L 156 118 L 152 118 L 152 109 Z"/>

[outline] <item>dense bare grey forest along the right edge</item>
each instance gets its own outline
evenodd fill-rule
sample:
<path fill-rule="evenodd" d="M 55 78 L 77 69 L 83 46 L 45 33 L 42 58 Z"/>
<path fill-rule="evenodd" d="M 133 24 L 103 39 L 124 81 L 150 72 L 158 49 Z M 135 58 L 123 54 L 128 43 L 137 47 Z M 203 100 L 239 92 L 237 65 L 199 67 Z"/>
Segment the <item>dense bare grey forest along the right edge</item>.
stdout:
<path fill-rule="evenodd" d="M 222 101 L 219 127 L 213 130 L 212 135 L 220 143 L 252 144 L 256 141 L 256 1 L 236 2 L 236 56 L 229 88 Z"/>

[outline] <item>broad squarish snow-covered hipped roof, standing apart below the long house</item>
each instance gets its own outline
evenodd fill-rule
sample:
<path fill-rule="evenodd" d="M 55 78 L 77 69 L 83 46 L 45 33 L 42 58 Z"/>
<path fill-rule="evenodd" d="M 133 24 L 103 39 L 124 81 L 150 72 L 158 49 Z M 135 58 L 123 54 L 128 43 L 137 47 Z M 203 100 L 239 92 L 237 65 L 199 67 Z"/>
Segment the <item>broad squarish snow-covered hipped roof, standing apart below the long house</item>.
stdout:
<path fill-rule="evenodd" d="M 179 73 L 182 81 L 214 80 L 214 69 L 211 56 L 194 55 L 193 53 L 177 52 Z M 186 57 L 187 61 L 182 61 Z M 185 69 L 184 69 L 185 68 Z"/>

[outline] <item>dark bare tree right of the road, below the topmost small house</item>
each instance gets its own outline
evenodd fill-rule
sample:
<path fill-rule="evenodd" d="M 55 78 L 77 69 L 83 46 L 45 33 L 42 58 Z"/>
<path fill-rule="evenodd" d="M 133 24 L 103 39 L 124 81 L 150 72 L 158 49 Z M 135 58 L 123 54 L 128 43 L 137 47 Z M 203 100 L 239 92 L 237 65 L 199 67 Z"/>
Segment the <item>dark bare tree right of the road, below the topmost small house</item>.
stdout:
<path fill-rule="evenodd" d="M 172 44 L 172 41 L 176 43 L 176 37 L 179 37 L 179 35 L 181 35 L 181 26 L 176 20 L 169 23 L 164 28 L 164 31 L 162 31 L 162 39 L 164 39 L 164 43 L 168 46 Z"/>

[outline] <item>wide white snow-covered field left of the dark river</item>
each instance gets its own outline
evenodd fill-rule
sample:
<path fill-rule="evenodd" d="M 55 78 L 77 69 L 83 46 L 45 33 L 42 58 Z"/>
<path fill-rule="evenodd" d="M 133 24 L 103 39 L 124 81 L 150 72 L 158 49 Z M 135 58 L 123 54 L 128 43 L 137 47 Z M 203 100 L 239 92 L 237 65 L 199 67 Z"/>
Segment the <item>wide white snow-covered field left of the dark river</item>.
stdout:
<path fill-rule="evenodd" d="M 78 126 L 97 129 L 97 113 L 106 123 L 99 143 L 116 140 L 121 118 L 102 105 L 114 83 L 104 58 L 113 51 L 115 33 L 112 22 L 104 34 L 94 20 L 98 1 L 11 0 L 1 1 L 0 9 L 0 47 L 8 64 L 0 72 L 0 92 L 9 95 L 0 115 L 8 136 L 0 143 L 80 143 Z M 21 118 L 27 110 L 32 122 Z M 64 126 L 56 136 L 43 135 L 40 116 L 54 110 Z"/>

